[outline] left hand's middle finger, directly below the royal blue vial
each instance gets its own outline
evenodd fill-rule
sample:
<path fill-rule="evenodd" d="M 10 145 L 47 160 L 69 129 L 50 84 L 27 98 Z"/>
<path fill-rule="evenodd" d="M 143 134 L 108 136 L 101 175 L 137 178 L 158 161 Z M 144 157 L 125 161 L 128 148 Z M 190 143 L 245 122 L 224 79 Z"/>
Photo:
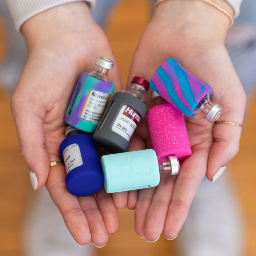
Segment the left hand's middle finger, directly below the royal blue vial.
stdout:
<path fill-rule="evenodd" d="M 91 231 L 91 241 L 96 247 L 103 247 L 108 241 L 108 233 L 100 210 L 93 195 L 78 197 Z"/>

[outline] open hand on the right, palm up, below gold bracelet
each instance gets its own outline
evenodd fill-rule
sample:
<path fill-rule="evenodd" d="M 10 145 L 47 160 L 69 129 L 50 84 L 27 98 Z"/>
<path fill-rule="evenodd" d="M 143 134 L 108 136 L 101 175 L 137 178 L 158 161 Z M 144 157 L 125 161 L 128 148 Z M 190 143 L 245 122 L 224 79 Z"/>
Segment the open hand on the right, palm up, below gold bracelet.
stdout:
<path fill-rule="evenodd" d="M 223 0 L 219 5 L 232 13 Z M 146 27 L 130 68 L 128 85 L 133 76 L 150 80 L 158 67 L 175 58 L 198 79 L 213 89 L 212 102 L 223 107 L 219 121 L 242 123 L 246 96 L 224 46 L 229 18 L 201 1 L 165 1 L 155 11 Z M 148 94 L 148 105 L 153 106 Z M 128 202 L 135 206 L 135 231 L 149 241 L 163 232 L 174 239 L 188 214 L 198 186 L 206 175 L 216 180 L 221 166 L 228 164 L 239 149 L 241 127 L 209 123 L 197 114 L 186 118 L 192 155 L 177 176 L 163 175 L 160 185 L 138 191 Z M 133 136 L 133 149 L 150 148 L 146 122 Z M 131 207 L 132 208 L 132 207 Z"/>

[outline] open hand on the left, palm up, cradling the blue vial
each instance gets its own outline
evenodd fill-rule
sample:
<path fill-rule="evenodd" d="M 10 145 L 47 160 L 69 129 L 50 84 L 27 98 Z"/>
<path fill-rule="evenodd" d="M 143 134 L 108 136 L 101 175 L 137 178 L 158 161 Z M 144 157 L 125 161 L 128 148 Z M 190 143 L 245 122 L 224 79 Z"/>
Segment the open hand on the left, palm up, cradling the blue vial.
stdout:
<path fill-rule="evenodd" d="M 22 26 L 28 58 L 11 98 L 20 151 L 33 176 L 34 189 L 46 185 L 76 242 L 103 246 L 118 229 L 118 210 L 104 189 L 95 196 L 76 197 L 65 184 L 59 161 L 64 116 L 79 75 L 94 69 L 97 57 L 116 63 L 106 35 L 83 1 L 59 5 L 27 20 Z M 117 65 L 110 72 L 121 90 Z M 116 195 L 118 197 L 118 195 Z M 122 198 L 122 196 L 121 196 Z M 126 205 L 127 197 L 124 198 Z"/>

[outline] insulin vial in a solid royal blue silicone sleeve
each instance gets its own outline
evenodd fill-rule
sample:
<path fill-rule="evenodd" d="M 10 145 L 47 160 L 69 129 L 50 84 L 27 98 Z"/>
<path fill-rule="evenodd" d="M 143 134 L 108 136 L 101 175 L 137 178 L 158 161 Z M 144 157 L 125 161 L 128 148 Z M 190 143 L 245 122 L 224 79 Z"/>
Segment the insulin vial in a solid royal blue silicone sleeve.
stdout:
<path fill-rule="evenodd" d="M 68 126 L 59 153 L 66 168 L 66 186 L 71 194 L 89 196 L 104 184 L 100 159 L 93 139 Z"/>

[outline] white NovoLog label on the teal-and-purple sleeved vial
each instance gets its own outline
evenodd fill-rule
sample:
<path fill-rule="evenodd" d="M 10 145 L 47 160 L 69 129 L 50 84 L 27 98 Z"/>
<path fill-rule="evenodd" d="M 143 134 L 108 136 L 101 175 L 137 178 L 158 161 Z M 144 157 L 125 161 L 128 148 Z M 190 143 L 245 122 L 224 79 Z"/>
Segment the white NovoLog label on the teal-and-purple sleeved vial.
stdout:
<path fill-rule="evenodd" d="M 90 90 L 80 114 L 81 118 L 92 123 L 100 122 L 108 95 L 105 92 Z"/>

